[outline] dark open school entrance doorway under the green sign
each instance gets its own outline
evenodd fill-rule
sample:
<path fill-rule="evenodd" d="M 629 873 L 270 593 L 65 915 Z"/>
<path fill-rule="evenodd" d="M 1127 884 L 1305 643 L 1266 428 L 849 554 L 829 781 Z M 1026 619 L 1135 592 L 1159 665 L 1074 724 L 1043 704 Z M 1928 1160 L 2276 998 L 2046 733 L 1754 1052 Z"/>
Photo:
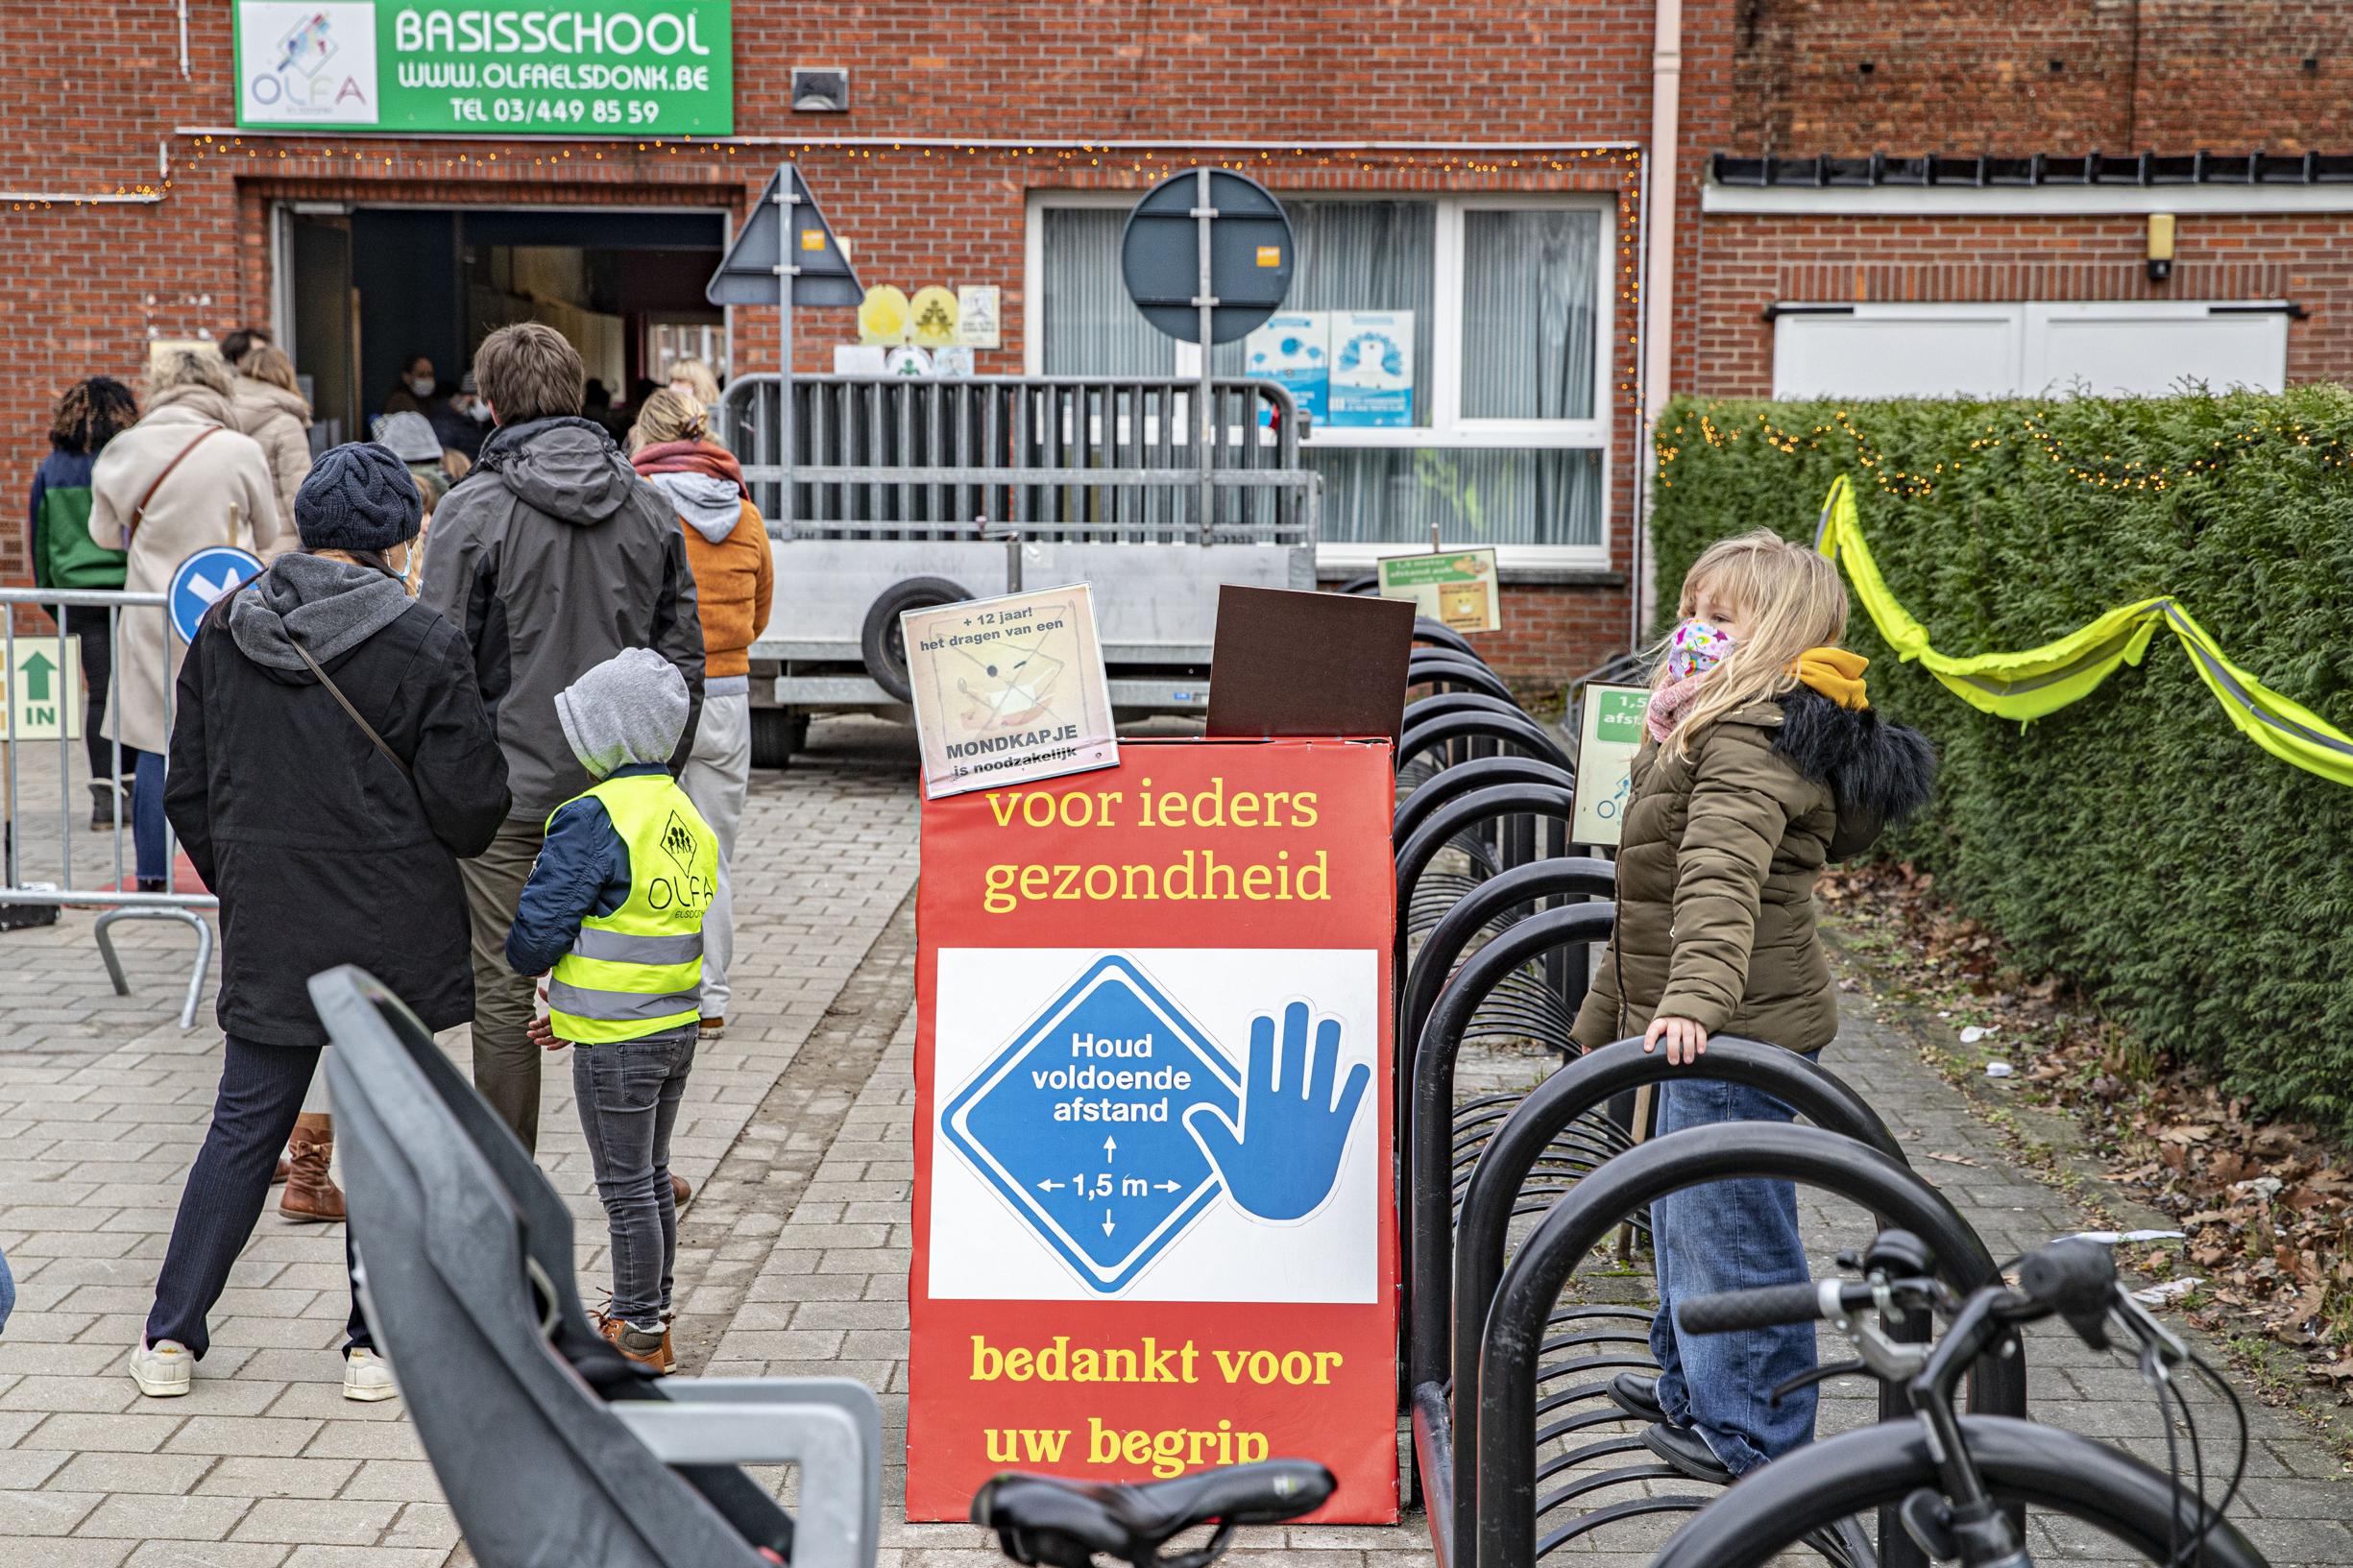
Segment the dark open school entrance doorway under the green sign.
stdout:
<path fill-rule="evenodd" d="M 704 299 L 725 212 L 292 200 L 275 226 L 278 334 L 313 444 L 365 440 L 388 402 L 414 407 L 395 395 L 416 360 L 433 364 L 435 425 L 461 437 L 449 404 L 473 350 L 511 322 L 562 331 L 588 367 L 591 416 L 609 407 L 619 428 L 673 360 L 706 360 L 727 383 L 727 317 Z"/>

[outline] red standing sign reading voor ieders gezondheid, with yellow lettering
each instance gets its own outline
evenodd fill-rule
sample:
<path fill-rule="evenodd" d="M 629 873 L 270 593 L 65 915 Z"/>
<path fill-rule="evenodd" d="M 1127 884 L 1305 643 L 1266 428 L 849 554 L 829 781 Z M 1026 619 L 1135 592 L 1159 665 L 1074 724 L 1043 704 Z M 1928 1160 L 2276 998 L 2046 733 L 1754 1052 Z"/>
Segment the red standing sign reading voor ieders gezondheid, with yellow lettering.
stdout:
<path fill-rule="evenodd" d="M 1320 1460 L 1398 1516 L 1386 743 L 925 804 L 908 1519 Z"/>

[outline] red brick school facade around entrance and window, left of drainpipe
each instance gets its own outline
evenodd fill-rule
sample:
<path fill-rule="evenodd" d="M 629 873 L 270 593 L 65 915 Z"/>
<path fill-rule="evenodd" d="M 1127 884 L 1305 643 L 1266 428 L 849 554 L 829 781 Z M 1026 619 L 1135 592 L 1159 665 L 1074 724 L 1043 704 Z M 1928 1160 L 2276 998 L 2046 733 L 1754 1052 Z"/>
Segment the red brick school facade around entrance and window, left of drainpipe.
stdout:
<path fill-rule="evenodd" d="M 12 202 L 0 214 L 0 310 L 19 339 L 19 374 L 0 381 L 0 470 L 24 484 L 42 451 L 47 402 L 87 374 L 134 378 L 151 336 L 198 336 L 268 320 L 266 212 L 273 197 L 372 202 L 616 202 L 744 209 L 788 150 L 800 153 L 828 219 L 871 282 L 995 282 L 1007 346 L 984 371 L 1019 371 L 1024 200 L 1033 188 L 1144 186 L 1202 160 L 1247 162 L 1275 190 L 1614 190 L 1624 195 L 1621 263 L 1635 254 L 1635 169 L 1617 155 L 1541 153 L 1560 143 L 1631 143 L 1649 132 L 1649 0 L 1374 0 L 1252 7 L 1146 0 L 991 2 L 967 7 L 882 0 L 805 7 L 736 0 L 739 136 L 1038 136 L 1035 153 L 948 148 L 809 148 L 635 141 L 424 141 L 372 136 L 219 136 L 235 120 L 228 5 L 193 5 L 191 71 L 179 63 L 169 5 L 108 19 L 106 71 L 73 38 L 87 7 L 64 0 L 0 5 L 0 122 L 31 127 L 0 143 L 0 190 L 59 197 L 160 188 L 141 207 Z M 854 26 L 852 26 L 854 21 Z M 1701 31 L 1701 28 L 1694 28 Z M 1727 49 L 1718 56 L 1729 59 Z M 788 73 L 847 66 L 847 115 L 793 115 Z M 1089 143 L 1207 139 L 1478 143 L 1482 150 L 1268 155 L 1184 146 L 1122 150 Z M 1692 129 L 1699 167 L 1711 136 Z M 1518 150 L 1513 150 L 1513 143 Z M 172 160 L 158 172 L 158 148 Z M 1504 150 L 1494 150 L 1504 148 Z M 1685 181 L 1697 214 L 1697 183 Z M 1631 273 L 1621 339 L 1638 336 Z M 849 313 L 805 313 L 805 369 Z M 1617 346 L 1631 364 L 1638 346 Z M 746 367 L 774 355 L 774 313 L 736 313 Z M 1631 371 L 1621 376 L 1631 383 Z M 1626 567 L 1638 475 L 1631 388 L 1612 433 L 1614 564 Z M 0 531 L 0 578 L 21 581 L 24 541 Z M 1621 588 L 1553 588 L 1541 599 L 1591 602 L 1577 621 L 1529 628 L 1600 637 L 1624 621 Z M 1553 611 L 1544 611 L 1551 616 Z M 1513 658 L 1544 663 L 1515 635 Z M 1607 651 L 1607 649 L 1602 649 Z M 1560 649 L 1560 672 L 1595 663 L 1588 642 Z"/>

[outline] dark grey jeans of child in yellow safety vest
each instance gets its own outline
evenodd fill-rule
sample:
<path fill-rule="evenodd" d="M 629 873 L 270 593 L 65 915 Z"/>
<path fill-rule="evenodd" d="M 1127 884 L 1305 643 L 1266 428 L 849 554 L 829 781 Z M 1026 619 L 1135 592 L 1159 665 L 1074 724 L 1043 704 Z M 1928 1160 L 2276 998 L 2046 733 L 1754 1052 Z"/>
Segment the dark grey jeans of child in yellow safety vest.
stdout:
<path fill-rule="evenodd" d="M 671 1309 L 678 1204 L 671 1194 L 671 1128 L 694 1070 L 696 1025 L 600 1046 L 572 1046 L 572 1098 L 595 1192 L 612 1232 L 612 1316 L 659 1328 Z"/>

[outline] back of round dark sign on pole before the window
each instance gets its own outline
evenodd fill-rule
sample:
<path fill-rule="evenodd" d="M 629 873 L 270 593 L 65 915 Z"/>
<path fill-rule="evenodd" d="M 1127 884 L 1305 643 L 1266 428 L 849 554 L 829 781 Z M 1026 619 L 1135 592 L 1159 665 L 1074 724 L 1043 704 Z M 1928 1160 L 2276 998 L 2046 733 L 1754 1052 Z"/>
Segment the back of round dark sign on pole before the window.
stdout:
<path fill-rule="evenodd" d="M 1160 331 L 1200 343 L 1200 169 L 1174 174 L 1127 214 L 1120 280 Z M 1247 174 L 1209 169 L 1209 341 L 1247 336 L 1292 287 L 1292 221 Z"/>

